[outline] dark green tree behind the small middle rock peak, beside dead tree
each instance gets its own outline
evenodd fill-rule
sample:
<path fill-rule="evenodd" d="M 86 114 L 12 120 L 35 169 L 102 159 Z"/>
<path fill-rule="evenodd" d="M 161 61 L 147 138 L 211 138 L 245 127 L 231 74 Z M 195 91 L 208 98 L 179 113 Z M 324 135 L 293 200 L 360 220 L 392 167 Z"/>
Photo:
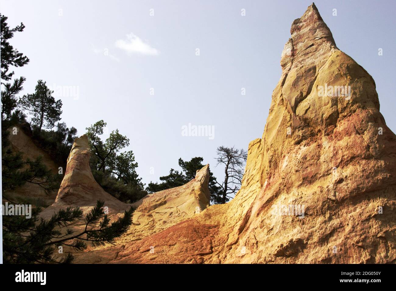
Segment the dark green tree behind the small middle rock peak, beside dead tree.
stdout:
<path fill-rule="evenodd" d="M 146 190 L 150 193 L 154 193 L 169 188 L 179 187 L 188 183 L 195 178 L 196 171 L 204 167 L 204 164 L 202 164 L 203 161 L 204 159 L 202 157 L 192 158 L 189 162 L 185 162 L 179 158 L 179 166 L 181 167 L 182 171 L 179 172 L 171 169 L 168 176 L 160 177 L 162 183 L 158 184 L 150 182 Z M 219 193 L 220 190 L 221 188 L 217 186 L 217 181 L 213 176 L 213 173 L 209 172 L 209 191 L 211 204 L 221 203 L 222 196 Z"/>

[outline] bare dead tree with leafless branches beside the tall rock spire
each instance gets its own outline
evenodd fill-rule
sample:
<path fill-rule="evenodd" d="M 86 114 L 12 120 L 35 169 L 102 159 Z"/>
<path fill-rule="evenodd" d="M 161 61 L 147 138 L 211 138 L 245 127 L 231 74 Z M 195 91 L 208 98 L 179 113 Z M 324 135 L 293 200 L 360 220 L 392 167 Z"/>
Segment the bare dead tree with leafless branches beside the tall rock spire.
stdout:
<path fill-rule="evenodd" d="M 217 148 L 217 165 L 224 165 L 224 182 L 220 184 L 223 190 L 222 203 L 226 203 L 231 194 L 236 194 L 242 184 L 244 167 L 247 159 L 247 152 L 244 149 L 238 149 L 234 146 L 231 148 L 219 146 Z M 217 167 L 216 165 L 216 167 Z"/>

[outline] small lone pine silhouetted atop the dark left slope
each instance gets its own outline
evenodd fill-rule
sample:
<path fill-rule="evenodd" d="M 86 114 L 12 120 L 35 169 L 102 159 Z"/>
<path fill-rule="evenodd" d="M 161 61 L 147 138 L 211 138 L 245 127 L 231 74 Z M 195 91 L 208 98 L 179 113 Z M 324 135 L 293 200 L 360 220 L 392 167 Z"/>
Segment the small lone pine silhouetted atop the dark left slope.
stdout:
<path fill-rule="evenodd" d="M 46 82 L 38 80 L 35 92 L 23 95 L 18 101 L 18 106 L 32 115 L 32 123 L 38 128 L 39 133 L 43 125 L 51 129 L 55 122 L 61 120 L 62 101 L 55 101 L 52 93 Z"/>

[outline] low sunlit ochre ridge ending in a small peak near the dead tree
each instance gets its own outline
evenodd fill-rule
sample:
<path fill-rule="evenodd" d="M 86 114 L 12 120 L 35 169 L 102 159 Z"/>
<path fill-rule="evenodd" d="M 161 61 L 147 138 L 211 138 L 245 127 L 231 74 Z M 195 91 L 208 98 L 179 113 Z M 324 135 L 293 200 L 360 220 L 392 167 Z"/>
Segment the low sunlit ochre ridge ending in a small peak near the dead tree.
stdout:
<path fill-rule="evenodd" d="M 206 165 L 197 171 L 195 179 L 187 184 L 148 194 L 133 204 L 136 208 L 133 212 L 133 225 L 124 236 L 116 241 L 115 245 L 96 247 L 84 253 L 75 254 L 75 262 L 125 262 L 124 258 L 133 252 L 136 242 L 146 237 L 155 238 L 156 233 L 197 216 L 206 209 L 210 200 L 208 183 L 209 165 Z M 158 241 L 151 241 L 143 252 L 155 252 L 157 245 Z"/>

